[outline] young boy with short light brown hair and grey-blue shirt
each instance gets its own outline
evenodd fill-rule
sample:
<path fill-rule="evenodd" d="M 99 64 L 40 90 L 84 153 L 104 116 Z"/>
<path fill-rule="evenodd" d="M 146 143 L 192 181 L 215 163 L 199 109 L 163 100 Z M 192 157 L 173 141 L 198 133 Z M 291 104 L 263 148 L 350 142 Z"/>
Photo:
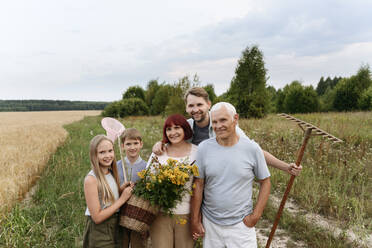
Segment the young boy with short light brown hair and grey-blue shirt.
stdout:
<path fill-rule="evenodd" d="M 139 177 L 138 172 L 146 168 L 147 162 L 140 157 L 140 151 L 143 146 L 141 133 L 135 128 L 128 128 L 120 137 L 121 148 L 125 151 L 126 157 L 124 158 L 125 165 L 127 166 L 128 180 L 135 183 Z M 117 163 L 120 185 L 124 183 L 123 165 L 119 160 Z M 141 234 L 125 227 L 123 229 L 123 247 L 129 248 L 143 248 L 143 239 Z"/>

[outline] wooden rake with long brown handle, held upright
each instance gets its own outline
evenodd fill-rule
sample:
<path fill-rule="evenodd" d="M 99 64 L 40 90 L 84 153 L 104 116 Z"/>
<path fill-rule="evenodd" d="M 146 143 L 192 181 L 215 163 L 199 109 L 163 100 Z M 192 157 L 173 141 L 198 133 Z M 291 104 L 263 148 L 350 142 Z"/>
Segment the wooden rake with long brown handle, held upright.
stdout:
<path fill-rule="evenodd" d="M 278 115 L 280 117 L 286 118 L 290 121 L 296 122 L 298 124 L 298 126 L 304 131 L 304 138 L 303 138 L 303 141 L 302 141 L 302 146 L 300 148 L 300 151 L 298 153 L 297 160 L 296 160 L 296 165 L 297 166 L 299 166 L 300 163 L 301 163 L 301 160 L 302 160 L 302 157 L 304 155 L 307 142 L 309 141 L 311 135 L 323 136 L 326 139 L 328 139 L 329 141 L 331 141 L 332 143 L 343 142 L 339 138 L 336 138 L 335 136 L 323 131 L 322 129 L 320 129 L 320 128 L 318 128 L 318 127 L 316 127 L 316 126 L 314 126 L 310 123 L 304 122 L 302 120 L 299 120 L 299 119 L 297 119 L 293 116 L 287 115 L 287 114 L 278 114 Z M 313 131 L 314 131 L 314 133 L 312 133 Z M 276 214 L 275 222 L 273 224 L 273 227 L 271 228 L 270 236 L 269 236 L 269 239 L 267 240 L 267 243 L 266 243 L 266 248 L 270 247 L 271 241 L 274 237 L 275 230 L 278 226 L 280 216 L 282 215 L 285 202 L 287 201 L 288 194 L 291 191 L 291 188 L 292 188 L 295 177 L 296 176 L 292 175 L 289 182 L 288 182 L 287 189 L 284 192 L 282 202 L 280 203 L 278 213 Z"/>

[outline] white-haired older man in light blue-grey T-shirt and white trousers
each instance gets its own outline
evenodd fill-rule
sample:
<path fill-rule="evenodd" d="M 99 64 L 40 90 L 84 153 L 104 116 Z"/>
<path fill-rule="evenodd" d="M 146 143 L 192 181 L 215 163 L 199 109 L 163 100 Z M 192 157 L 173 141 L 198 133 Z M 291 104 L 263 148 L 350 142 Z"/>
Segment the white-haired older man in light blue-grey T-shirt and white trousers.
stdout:
<path fill-rule="evenodd" d="M 238 114 L 230 103 L 215 104 L 211 118 L 216 137 L 198 147 L 196 164 L 200 175 L 194 180 L 191 233 L 194 239 L 204 236 L 204 248 L 257 247 L 254 226 L 263 213 L 271 186 L 263 152 L 257 143 L 238 135 Z M 255 177 L 260 190 L 253 209 Z"/>

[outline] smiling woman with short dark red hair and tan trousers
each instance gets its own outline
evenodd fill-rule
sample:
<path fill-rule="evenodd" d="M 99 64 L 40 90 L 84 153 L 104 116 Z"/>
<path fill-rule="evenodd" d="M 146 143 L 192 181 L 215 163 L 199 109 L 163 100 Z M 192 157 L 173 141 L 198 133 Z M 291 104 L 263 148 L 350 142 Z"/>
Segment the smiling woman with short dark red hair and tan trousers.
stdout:
<path fill-rule="evenodd" d="M 178 161 L 193 162 L 196 159 L 197 146 L 187 142 L 192 137 L 192 130 L 185 117 L 179 114 L 169 116 L 163 127 L 163 143 L 167 145 L 166 152 L 159 156 L 161 164 L 166 163 L 168 158 Z M 149 161 L 152 161 L 151 154 Z M 150 162 L 149 162 L 150 163 Z M 149 166 L 148 163 L 148 166 Z M 191 190 L 192 178 L 185 187 Z M 154 248 L 192 248 L 194 242 L 189 230 L 190 214 L 189 194 L 173 209 L 173 217 L 159 214 L 150 227 L 150 236 Z M 178 223 L 180 219 L 186 219 L 186 224 Z"/>

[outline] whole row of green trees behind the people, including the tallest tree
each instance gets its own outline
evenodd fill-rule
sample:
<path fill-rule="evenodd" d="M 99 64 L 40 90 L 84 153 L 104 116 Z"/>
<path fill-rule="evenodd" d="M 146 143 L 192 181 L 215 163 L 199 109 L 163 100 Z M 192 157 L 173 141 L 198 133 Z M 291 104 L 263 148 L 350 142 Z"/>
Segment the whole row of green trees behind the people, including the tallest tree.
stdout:
<path fill-rule="evenodd" d="M 262 118 L 268 113 L 311 113 L 372 110 L 372 79 L 369 65 L 362 65 L 348 78 L 321 77 L 316 88 L 295 80 L 276 90 L 266 83 L 268 77 L 262 51 L 258 46 L 243 50 L 229 89 L 220 96 L 213 84 L 201 86 L 197 76 L 184 76 L 174 83 L 150 80 L 146 88 L 131 86 L 122 99 L 106 106 L 104 116 L 169 115 L 185 113 L 183 96 L 193 86 L 203 87 L 212 104 L 232 103 L 241 117 Z"/>

